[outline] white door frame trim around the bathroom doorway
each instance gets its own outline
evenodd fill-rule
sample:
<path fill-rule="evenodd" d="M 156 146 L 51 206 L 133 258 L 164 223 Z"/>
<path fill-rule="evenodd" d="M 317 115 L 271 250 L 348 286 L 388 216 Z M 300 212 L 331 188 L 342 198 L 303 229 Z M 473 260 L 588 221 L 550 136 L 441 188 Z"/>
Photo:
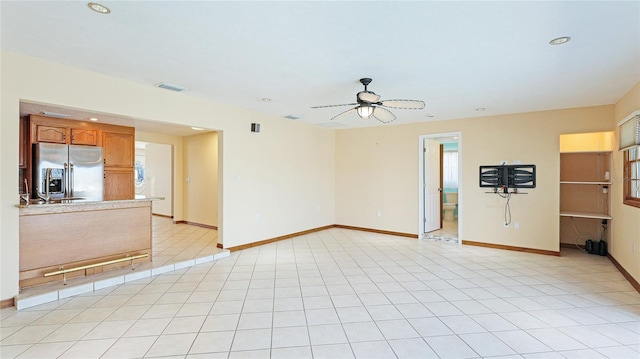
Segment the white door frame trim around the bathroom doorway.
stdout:
<path fill-rule="evenodd" d="M 425 237 L 424 232 L 424 183 L 425 183 L 425 168 L 424 168 L 424 140 L 425 139 L 438 139 L 442 137 L 458 137 L 458 244 L 462 243 L 462 223 L 464 207 L 463 203 L 463 191 L 462 191 L 462 131 L 455 132 L 439 132 L 424 134 L 418 136 L 418 233 L 419 238 Z"/>

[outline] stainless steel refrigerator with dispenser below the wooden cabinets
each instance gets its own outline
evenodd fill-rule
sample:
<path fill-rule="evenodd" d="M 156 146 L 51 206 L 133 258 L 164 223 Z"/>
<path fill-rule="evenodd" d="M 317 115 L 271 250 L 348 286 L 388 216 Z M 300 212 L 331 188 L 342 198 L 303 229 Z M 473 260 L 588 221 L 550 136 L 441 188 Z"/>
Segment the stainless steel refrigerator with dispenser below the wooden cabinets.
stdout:
<path fill-rule="evenodd" d="M 102 147 L 33 144 L 34 198 L 102 201 Z"/>

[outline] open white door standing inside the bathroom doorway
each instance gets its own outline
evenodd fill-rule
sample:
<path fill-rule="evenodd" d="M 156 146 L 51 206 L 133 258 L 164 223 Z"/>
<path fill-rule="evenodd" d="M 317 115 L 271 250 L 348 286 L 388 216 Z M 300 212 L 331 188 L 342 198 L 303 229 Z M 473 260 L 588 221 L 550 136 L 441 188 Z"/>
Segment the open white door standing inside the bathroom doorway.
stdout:
<path fill-rule="evenodd" d="M 440 142 L 424 140 L 424 232 L 440 229 Z"/>

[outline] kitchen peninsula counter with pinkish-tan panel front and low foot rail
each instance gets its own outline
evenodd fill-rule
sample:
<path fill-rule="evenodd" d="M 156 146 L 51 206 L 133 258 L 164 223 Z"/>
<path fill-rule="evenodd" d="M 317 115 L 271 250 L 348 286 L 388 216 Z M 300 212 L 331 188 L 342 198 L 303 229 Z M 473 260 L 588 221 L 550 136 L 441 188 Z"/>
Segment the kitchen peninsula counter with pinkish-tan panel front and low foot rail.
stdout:
<path fill-rule="evenodd" d="M 44 277 L 61 267 L 99 264 L 147 254 L 134 262 L 151 261 L 151 202 L 161 197 L 130 200 L 64 200 L 56 203 L 21 204 L 20 288 L 62 280 Z M 68 273 L 86 276 L 128 265 L 100 265 Z"/>

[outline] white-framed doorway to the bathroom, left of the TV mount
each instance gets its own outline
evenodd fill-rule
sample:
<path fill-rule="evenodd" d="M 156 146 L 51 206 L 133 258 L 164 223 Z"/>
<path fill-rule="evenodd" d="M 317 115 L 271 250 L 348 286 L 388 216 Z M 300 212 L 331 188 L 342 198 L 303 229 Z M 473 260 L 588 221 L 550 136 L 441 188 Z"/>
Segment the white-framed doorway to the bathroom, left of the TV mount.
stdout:
<path fill-rule="evenodd" d="M 460 243 L 462 133 L 419 136 L 420 238 Z"/>

